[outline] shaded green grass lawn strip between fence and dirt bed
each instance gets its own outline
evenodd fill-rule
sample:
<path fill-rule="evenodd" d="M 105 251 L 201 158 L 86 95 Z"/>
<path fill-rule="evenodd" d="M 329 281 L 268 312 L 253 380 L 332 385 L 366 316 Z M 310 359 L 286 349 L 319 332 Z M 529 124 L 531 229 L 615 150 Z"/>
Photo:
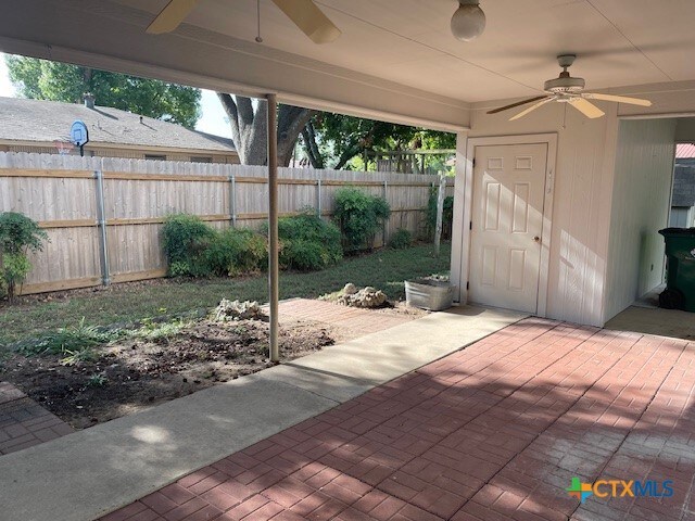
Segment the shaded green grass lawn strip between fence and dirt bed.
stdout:
<path fill-rule="evenodd" d="M 280 274 L 280 298 L 317 297 L 346 282 L 374 285 L 389 298 L 404 298 L 403 281 L 448 270 L 451 246 L 442 244 L 440 258 L 431 244 L 406 250 L 382 250 L 348 258 L 340 265 L 308 274 Z M 267 302 L 267 275 L 236 279 L 170 280 L 160 284 L 121 284 L 109 291 L 76 293 L 52 302 L 0 307 L 0 345 L 41 336 L 65 326 L 130 323 L 216 306 L 222 298 Z"/>

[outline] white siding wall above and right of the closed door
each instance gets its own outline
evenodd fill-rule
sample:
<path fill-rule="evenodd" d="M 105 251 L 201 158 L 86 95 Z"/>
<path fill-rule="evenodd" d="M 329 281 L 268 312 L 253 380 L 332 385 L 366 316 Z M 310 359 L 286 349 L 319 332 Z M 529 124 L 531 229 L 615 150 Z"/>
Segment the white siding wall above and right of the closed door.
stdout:
<path fill-rule="evenodd" d="M 571 107 L 565 116 L 558 103 L 517 122 L 507 120 L 514 111 L 491 116 L 489 109 L 475 107 L 469 137 L 557 132 L 546 316 L 603 326 L 616 105 L 604 103 L 606 117 L 587 119 Z"/>

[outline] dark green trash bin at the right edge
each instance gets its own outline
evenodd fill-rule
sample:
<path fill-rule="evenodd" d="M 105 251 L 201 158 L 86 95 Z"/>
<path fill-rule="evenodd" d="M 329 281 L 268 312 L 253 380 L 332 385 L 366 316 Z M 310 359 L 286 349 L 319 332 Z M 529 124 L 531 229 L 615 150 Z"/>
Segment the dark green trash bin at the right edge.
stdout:
<path fill-rule="evenodd" d="M 695 312 L 695 228 L 659 230 L 666 241 L 666 291 L 659 305 Z"/>

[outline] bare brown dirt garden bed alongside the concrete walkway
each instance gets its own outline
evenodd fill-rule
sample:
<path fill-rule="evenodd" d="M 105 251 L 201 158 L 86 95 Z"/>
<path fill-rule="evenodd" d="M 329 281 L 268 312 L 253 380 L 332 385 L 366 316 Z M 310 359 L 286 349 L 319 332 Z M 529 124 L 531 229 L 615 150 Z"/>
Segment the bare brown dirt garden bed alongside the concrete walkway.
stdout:
<path fill-rule="evenodd" d="M 399 303 L 363 313 L 414 319 L 426 312 Z M 13 383 L 74 428 L 85 429 L 274 365 L 268 359 L 268 323 L 264 320 L 204 318 L 152 322 L 150 328 L 74 352 L 5 352 L 0 381 Z M 358 334 L 325 321 L 283 321 L 281 361 Z"/>

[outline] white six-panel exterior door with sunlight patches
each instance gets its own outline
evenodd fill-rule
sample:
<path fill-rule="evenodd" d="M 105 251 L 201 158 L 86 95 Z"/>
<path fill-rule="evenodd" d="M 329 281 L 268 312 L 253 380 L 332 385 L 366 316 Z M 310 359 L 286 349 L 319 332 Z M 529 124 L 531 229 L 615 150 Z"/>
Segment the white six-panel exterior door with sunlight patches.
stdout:
<path fill-rule="evenodd" d="M 536 313 L 547 144 L 476 147 L 469 301 Z"/>

